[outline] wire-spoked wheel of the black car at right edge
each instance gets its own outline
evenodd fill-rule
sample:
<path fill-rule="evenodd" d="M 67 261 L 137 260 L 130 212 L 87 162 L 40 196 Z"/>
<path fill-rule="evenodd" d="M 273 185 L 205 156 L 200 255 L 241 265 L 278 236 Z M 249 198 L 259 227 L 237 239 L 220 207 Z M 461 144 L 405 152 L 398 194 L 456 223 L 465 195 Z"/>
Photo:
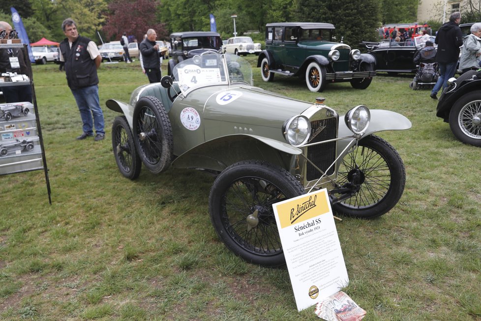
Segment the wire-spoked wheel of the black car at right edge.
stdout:
<path fill-rule="evenodd" d="M 481 147 L 481 124 L 473 124 L 473 117 L 481 117 L 481 91 L 473 91 L 458 98 L 449 114 L 449 126 L 457 139 L 465 144 Z"/>

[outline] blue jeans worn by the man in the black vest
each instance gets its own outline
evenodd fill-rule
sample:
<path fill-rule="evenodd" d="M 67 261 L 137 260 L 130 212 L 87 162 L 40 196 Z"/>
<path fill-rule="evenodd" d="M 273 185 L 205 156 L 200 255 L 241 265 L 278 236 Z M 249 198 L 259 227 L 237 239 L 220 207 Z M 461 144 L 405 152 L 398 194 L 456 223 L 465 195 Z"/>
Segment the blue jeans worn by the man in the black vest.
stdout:
<path fill-rule="evenodd" d="M 82 129 L 89 135 L 93 135 L 93 123 L 95 124 L 95 133 L 104 134 L 104 114 L 100 108 L 98 99 L 98 86 L 93 85 L 89 87 L 71 89 L 77 106 L 79 107 L 80 117 L 84 123 Z"/>

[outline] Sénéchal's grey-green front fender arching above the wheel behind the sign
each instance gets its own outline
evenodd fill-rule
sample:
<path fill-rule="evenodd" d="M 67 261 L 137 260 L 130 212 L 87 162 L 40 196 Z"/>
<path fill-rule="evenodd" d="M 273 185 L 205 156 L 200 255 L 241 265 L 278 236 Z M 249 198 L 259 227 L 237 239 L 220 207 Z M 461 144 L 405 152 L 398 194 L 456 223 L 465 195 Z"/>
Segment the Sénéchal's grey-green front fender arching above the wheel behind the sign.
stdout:
<path fill-rule="evenodd" d="M 241 160 L 265 160 L 289 170 L 293 155 L 301 149 L 271 138 L 236 134 L 214 138 L 180 155 L 172 166 L 203 168 L 217 172 Z"/>

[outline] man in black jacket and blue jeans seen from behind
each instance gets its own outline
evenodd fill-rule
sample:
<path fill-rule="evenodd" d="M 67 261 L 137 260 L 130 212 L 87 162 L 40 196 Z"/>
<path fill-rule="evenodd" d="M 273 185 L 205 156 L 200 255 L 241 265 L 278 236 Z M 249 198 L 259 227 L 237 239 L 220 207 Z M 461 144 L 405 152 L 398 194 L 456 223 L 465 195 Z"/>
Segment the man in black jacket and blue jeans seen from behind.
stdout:
<path fill-rule="evenodd" d="M 438 45 L 436 61 L 439 65 L 439 78 L 431 91 L 430 96 L 433 99 L 438 99 L 437 93 L 441 87 L 445 88 L 448 85 L 448 80 L 456 72 L 459 47 L 463 45 L 463 35 L 458 27 L 459 22 L 461 22 L 461 13 L 451 13 L 449 22 L 441 26 L 436 35 L 436 40 L 434 40 Z"/>

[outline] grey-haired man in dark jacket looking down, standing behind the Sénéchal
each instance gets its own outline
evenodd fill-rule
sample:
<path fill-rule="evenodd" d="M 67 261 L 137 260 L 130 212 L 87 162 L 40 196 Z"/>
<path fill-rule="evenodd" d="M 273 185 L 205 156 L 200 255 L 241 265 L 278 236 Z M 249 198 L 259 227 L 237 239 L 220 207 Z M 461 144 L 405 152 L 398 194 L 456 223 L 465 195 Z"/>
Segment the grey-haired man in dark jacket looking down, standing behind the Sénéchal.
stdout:
<path fill-rule="evenodd" d="M 144 70 L 149 77 L 150 83 L 160 82 L 160 52 L 159 45 L 155 42 L 157 33 L 153 29 L 147 31 L 147 38 L 145 38 L 139 46 L 144 64 Z"/>

